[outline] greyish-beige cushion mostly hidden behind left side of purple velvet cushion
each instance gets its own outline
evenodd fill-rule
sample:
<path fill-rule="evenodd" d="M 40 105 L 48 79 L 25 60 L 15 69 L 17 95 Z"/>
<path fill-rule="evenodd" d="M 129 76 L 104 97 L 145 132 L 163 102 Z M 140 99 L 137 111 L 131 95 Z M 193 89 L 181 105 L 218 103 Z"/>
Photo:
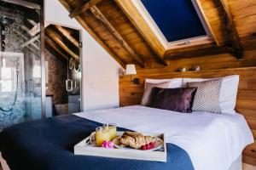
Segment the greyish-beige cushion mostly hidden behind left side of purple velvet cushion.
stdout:
<path fill-rule="evenodd" d="M 168 88 L 170 82 L 161 82 L 161 83 L 145 83 L 145 89 L 144 89 L 144 94 L 143 94 L 143 99 L 141 102 L 141 105 L 149 105 L 151 101 L 151 91 L 152 88 L 158 87 L 158 88 Z"/>

